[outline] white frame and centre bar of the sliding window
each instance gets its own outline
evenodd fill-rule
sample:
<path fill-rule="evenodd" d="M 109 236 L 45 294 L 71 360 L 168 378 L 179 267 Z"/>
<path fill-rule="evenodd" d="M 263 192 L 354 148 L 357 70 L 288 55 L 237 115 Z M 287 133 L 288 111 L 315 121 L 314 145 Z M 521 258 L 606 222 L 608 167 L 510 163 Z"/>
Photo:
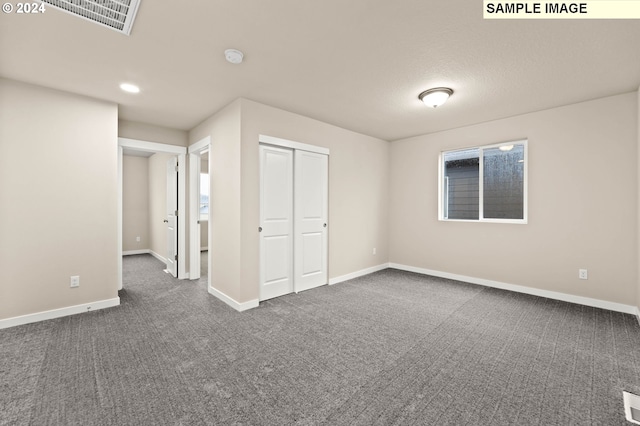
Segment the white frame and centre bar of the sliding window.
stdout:
<path fill-rule="evenodd" d="M 506 145 L 523 145 L 524 146 L 524 164 L 523 164 L 523 193 L 522 193 L 522 208 L 523 214 L 522 219 L 486 219 L 484 218 L 484 150 L 491 148 L 499 148 L 501 146 Z M 480 165 L 479 165 L 479 210 L 478 210 L 478 219 L 449 219 L 446 217 L 446 209 L 448 209 L 448 191 L 444 190 L 444 186 L 447 183 L 447 179 L 444 176 L 444 155 L 450 152 L 457 151 L 466 151 L 469 149 L 477 149 L 479 150 L 480 157 Z M 529 169 L 529 151 L 528 151 L 528 140 L 527 139 L 519 139 L 508 142 L 500 142 L 491 145 L 481 145 L 481 146 L 469 146 L 465 148 L 458 149 L 450 149 L 446 151 L 441 151 L 438 157 L 438 220 L 443 222 L 488 222 L 488 223 L 515 223 L 515 224 L 526 224 L 528 221 L 528 169 Z"/>

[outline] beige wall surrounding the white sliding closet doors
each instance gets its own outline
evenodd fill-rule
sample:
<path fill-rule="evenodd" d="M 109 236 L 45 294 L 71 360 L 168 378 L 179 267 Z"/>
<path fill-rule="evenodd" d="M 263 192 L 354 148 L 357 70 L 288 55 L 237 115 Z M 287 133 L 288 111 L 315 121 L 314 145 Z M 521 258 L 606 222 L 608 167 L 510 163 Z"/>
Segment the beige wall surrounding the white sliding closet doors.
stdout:
<path fill-rule="evenodd" d="M 242 99 L 243 300 L 259 296 L 260 134 L 331 150 L 329 278 L 387 263 L 389 143 Z"/>

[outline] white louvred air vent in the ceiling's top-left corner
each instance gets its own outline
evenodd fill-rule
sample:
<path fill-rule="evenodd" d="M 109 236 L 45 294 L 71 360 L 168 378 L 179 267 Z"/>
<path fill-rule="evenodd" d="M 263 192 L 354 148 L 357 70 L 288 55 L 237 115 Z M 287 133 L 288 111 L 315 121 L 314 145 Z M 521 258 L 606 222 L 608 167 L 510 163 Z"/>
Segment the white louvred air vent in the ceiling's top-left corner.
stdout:
<path fill-rule="evenodd" d="M 56 9 L 129 35 L 140 0 L 41 0 Z"/>

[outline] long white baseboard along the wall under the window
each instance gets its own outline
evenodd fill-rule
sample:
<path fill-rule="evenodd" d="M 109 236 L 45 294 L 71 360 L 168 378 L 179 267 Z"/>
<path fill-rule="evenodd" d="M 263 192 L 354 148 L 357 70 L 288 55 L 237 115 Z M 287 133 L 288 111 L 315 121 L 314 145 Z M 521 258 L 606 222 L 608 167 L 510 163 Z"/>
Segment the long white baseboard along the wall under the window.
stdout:
<path fill-rule="evenodd" d="M 626 314 L 635 315 L 638 308 L 622 303 L 609 302 L 606 300 L 592 299 L 589 297 L 575 296 L 572 294 L 559 293 L 556 291 L 541 290 L 533 287 L 525 287 L 516 284 L 503 283 L 499 281 L 486 280 L 483 278 L 469 277 L 466 275 L 451 274 L 449 272 L 434 271 L 431 269 L 416 268 L 414 266 L 401 265 L 398 263 L 389 263 L 390 268 L 400 269 L 402 271 L 417 272 L 419 274 L 433 275 L 440 278 L 449 278 L 457 281 L 464 281 L 471 284 L 479 284 L 486 287 L 500 288 L 503 290 L 515 291 L 516 293 L 531 294 L 533 296 L 546 297 L 549 299 L 562 300 L 563 302 L 577 303 L 579 305 L 591 306 L 594 308 L 607 309 L 609 311 L 624 312 Z"/>

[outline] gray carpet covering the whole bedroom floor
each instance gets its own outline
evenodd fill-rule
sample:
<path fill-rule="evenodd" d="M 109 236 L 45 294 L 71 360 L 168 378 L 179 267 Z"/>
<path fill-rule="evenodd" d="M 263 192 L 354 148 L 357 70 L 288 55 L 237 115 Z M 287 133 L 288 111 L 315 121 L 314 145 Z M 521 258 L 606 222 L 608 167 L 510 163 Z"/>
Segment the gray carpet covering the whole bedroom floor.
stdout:
<path fill-rule="evenodd" d="M 631 315 L 392 269 L 238 313 L 162 269 L 0 330 L 0 424 L 626 425 L 640 394 Z"/>

